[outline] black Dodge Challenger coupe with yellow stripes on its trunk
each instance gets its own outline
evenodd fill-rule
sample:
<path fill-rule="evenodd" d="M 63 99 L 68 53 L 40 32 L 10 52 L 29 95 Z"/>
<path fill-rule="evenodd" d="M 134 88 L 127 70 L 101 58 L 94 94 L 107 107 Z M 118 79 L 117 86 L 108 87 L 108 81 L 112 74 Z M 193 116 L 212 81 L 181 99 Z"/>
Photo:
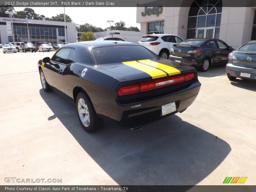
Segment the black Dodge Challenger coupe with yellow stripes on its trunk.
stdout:
<path fill-rule="evenodd" d="M 195 68 L 121 41 L 64 45 L 39 60 L 38 69 L 44 91 L 53 89 L 76 105 L 87 132 L 101 121 L 136 128 L 183 112 L 201 86 Z"/>

